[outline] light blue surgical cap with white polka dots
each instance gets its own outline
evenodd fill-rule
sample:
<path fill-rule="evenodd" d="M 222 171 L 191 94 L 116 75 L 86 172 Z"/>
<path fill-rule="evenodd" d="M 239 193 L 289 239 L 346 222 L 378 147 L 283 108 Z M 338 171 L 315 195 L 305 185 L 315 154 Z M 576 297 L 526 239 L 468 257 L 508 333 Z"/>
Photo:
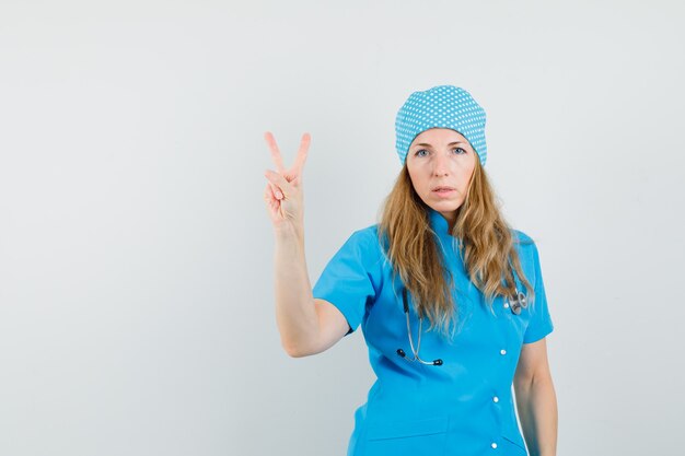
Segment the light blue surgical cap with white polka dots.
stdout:
<path fill-rule="evenodd" d="M 485 165 L 488 156 L 485 143 L 485 109 L 464 89 L 438 85 L 409 95 L 395 119 L 395 147 L 403 165 L 414 138 L 430 128 L 458 131 L 474 148 L 480 164 Z"/>

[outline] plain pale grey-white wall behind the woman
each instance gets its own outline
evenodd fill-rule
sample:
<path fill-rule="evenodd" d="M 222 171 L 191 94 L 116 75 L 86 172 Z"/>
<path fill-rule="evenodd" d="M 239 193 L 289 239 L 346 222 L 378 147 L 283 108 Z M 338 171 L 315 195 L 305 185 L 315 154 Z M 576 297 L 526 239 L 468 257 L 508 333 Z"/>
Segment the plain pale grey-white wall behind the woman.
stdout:
<path fill-rule="evenodd" d="M 0 455 L 342 455 L 361 332 L 281 349 L 264 171 L 304 131 L 312 284 L 414 91 L 468 90 L 537 243 L 558 455 L 681 455 L 678 1 L 0 3 Z"/>

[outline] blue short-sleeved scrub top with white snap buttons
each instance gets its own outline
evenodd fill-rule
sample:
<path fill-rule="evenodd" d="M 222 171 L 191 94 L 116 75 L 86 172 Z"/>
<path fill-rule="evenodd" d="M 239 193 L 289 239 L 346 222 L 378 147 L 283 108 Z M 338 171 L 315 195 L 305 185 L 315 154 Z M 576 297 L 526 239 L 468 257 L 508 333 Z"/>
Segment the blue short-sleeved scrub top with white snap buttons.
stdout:
<path fill-rule="evenodd" d="M 348 456 L 525 456 L 514 411 L 513 375 L 522 344 L 553 331 L 537 248 L 527 235 L 512 230 L 535 300 L 519 315 L 502 296 L 490 308 L 466 274 L 448 221 L 432 209 L 429 219 L 454 278 L 458 329 L 446 339 L 427 331 L 430 325 L 425 320 L 419 356 L 442 359 L 443 365 L 409 362 L 397 354 L 403 349 L 413 358 L 402 283 L 393 281 L 378 225 L 355 232 L 314 285 L 314 297 L 335 305 L 350 332 L 361 325 L 378 377 L 367 404 L 355 413 Z M 521 284 L 519 290 L 525 292 Z M 416 347 L 418 316 L 411 303 L 409 317 Z"/>

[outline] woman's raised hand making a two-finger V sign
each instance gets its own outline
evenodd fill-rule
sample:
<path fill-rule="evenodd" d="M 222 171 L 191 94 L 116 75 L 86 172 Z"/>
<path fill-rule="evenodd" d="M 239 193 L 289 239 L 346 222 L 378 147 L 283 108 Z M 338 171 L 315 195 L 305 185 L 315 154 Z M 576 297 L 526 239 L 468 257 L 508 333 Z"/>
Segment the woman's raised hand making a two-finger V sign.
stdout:
<path fill-rule="evenodd" d="M 286 169 L 286 166 L 283 166 L 283 159 L 278 150 L 274 135 L 267 131 L 264 135 L 264 139 L 271 151 L 274 164 L 276 164 L 276 171 L 267 169 L 264 173 L 268 180 L 264 190 L 267 212 L 275 229 L 294 229 L 295 232 L 301 233 L 304 224 L 302 171 L 306 161 L 311 137 L 309 133 L 302 135 L 298 156 L 290 169 Z"/>

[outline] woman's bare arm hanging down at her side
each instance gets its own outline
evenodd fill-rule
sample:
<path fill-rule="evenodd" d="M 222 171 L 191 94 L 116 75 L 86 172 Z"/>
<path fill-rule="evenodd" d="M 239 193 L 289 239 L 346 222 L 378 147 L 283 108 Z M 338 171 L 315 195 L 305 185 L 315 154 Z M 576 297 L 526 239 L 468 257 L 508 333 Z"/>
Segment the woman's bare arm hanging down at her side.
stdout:
<path fill-rule="evenodd" d="M 545 338 L 523 344 L 513 385 L 519 420 L 531 456 L 556 456 L 557 397 Z"/>

